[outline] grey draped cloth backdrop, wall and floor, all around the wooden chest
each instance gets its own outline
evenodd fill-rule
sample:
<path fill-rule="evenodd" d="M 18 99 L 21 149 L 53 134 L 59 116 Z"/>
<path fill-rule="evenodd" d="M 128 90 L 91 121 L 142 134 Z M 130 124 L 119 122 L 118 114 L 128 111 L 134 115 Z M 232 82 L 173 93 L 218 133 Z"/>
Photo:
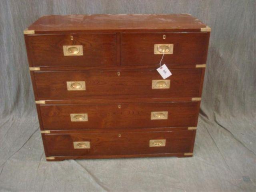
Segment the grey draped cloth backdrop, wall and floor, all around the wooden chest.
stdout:
<path fill-rule="evenodd" d="M 23 30 L 49 14 L 190 13 L 212 28 L 192 158 L 46 162 Z M 0 0 L 0 191 L 255 191 L 255 1 Z"/>

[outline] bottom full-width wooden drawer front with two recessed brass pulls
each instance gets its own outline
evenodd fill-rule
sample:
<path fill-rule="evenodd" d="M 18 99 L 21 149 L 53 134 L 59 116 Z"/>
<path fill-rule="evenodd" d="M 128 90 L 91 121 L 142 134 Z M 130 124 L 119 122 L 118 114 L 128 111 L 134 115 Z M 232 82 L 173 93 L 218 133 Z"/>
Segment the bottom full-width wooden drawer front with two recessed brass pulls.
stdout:
<path fill-rule="evenodd" d="M 195 130 L 43 134 L 47 156 L 192 152 Z"/>

